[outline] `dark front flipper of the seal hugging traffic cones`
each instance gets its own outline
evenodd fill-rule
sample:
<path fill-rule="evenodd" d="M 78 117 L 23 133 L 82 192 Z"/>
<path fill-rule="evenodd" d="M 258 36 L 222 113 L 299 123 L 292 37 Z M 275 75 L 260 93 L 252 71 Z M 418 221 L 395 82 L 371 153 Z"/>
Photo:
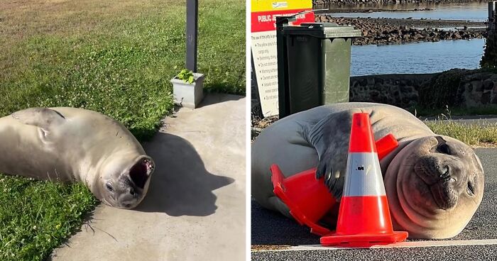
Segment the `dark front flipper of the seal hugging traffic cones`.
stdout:
<path fill-rule="evenodd" d="M 332 113 L 312 126 L 306 135 L 317 150 L 316 177 L 324 177 L 324 183 L 337 200 L 342 197 L 352 116 L 357 112 L 361 110 Z"/>

